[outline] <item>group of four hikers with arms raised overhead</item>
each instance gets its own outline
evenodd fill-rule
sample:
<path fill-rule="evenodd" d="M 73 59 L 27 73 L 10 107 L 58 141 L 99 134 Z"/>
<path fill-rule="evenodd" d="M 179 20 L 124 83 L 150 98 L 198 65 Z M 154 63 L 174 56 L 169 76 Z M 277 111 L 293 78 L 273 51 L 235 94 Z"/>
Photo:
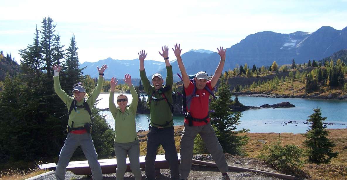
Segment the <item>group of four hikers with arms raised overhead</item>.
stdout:
<path fill-rule="evenodd" d="M 213 159 L 222 173 L 223 180 L 230 180 L 228 172 L 228 164 L 223 154 L 222 146 L 214 132 L 209 118 L 209 95 L 217 84 L 222 74 L 223 66 L 226 58 L 226 49 L 217 48 L 221 59 L 217 69 L 211 80 L 205 72 L 198 72 L 194 79 L 189 79 L 185 66 L 181 59 L 180 45 L 176 44 L 172 48 L 177 59 L 177 63 L 182 75 L 183 86 L 186 94 L 186 113 L 184 119 L 184 129 L 180 139 L 180 163 L 174 138 L 174 121 L 172 106 L 172 84 L 174 82 L 172 75 L 172 66 L 169 62 L 169 48 L 161 47 L 162 52 L 159 54 L 164 58 L 167 70 L 166 84 L 161 74 L 152 75 L 152 84 L 147 79 L 144 67 L 144 59 L 147 54 L 140 51 L 140 76 L 144 87 L 144 91 L 148 96 L 150 107 L 150 130 L 147 134 L 147 153 L 145 157 L 145 176 L 146 180 L 155 179 L 154 161 L 158 147 L 161 145 L 165 151 L 165 159 L 170 166 L 172 180 L 186 180 L 192 167 L 194 139 L 199 133 L 205 143 L 208 151 L 212 154 Z M 64 146 L 59 154 L 59 161 L 56 168 L 56 178 L 58 180 L 65 179 L 66 167 L 71 156 L 78 146 L 81 146 L 92 171 L 92 179 L 101 180 L 102 171 L 98 162 L 98 154 L 95 151 L 91 131 L 91 108 L 98 98 L 102 83 L 104 71 L 108 68 L 103 65 L 99 71 L 98 85 L 92 94 L 86 94 L 85 88 L 77 83 L 72 90 L 73 97 L 61 89 L 59 84 L 59 72 L 61 67 L 54 65 L 54 90 L 61 100 L 64 101 L 69 110 L 69 121 L 67 127 L 67 137 Z M 120 94 L 117 96 L 117 105 L 114 102 L 115 88 L 118 83 L 116 78 L 111 79 L 111 92 L 109 97 L 109 108 L 115 119 L 115 141 L 114 148 L 117 159 L 116 179 L 124 179 L 127 169 L 126 157 L 129 157 L 130 169 L 132 170 L 135 180 L 141 180 L 141 168 L 139 163 L 139 140 L 136 133 L 135 116 L 138 104 L 138 95 L 132 84 L 132 78 L 129 74 L 125 74 L 124 82 L 128 84 L 132 95 L 132 102 L 129 106 L 128 97 Z"/>

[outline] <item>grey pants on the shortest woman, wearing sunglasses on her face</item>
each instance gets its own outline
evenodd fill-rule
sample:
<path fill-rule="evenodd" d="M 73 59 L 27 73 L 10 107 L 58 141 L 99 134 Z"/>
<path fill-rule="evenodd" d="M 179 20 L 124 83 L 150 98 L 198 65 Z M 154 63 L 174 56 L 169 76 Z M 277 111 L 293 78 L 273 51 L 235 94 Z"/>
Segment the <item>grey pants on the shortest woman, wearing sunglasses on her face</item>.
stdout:
<path fill-rule="evenodd" d="M 116 143 L 115 147 L 116 159 L 117 159 L 117 171 L 116 179 L 123 180 L 125 171 L 127 170 L 127 155 L 129 156 L 130 169 L 135 176 L 135 180 L 141 180 L 141 168 L 140 168 L 140 143 L 138 140 L 129 143 Z"/>

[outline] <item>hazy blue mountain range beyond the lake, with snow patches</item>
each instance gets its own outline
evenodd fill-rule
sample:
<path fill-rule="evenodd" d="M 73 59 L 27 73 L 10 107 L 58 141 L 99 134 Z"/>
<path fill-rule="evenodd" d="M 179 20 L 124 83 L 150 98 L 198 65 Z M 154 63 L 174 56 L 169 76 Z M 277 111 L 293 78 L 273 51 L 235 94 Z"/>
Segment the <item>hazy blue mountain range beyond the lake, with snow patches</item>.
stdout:
<path fill-rule="evenodd" d="M 184 46 L 184 45 L 183 45 Z M 182 46 L 182 47 L 183 47 Z M 227 48 L 226 63 L 223 71 L 233 69 L 247 63 L 257 67 L 269 66 L 273 61 L 279 65 L 291 64 L 294 59 L 296 64 L 307 63 L 308 60 L 321 60 L 333 53 L 347 49 L 347 27 L 336 30 L 329 26 L 323 26 L 313 33 L 297 31 L 290 34 L 274 33 L 271 31 L 258 32 L 248 35 L 239 43 Z M 194 49 L 181 55 L 188 74 L 205 71 L 212 75 L 217 68 L 220 56 L 209 50 Z M 171 61 L 174 75 L 179 72 L 177 62 Z M 125 73 L 132 73 L 133 78 L 139 78 L 139 62 L 135 60 L 113 60 L 111 58 L 98 62 L 84 62 L 81 67 L 87 66 L 83 71 L 92 77 L 98 75 L 96 66 L 108 64 L 110 67 L 105 72 L 105 78 L 112 76 L 122 78 Z M 147 75 L 158 72 L 166 77 L 164 62 L 145 60 Z M 174 77 L 178 79 L 177 75 Z"/>

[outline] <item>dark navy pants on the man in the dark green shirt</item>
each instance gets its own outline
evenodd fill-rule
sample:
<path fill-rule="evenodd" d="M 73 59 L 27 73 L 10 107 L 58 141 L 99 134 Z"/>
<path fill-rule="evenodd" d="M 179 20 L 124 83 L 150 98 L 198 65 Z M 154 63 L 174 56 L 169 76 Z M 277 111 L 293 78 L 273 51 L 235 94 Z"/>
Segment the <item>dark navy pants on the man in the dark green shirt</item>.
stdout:
<path fill-rule="evenodd" d="M 168 128 L 157 128 L 152 126 L 151 130 L 148 132 L 147 154 L 145 157 L 146 179 L 155 179 L 154 161 L 159 145 L 161 145 L 165 150 L 165 159 L 170 165 L 171 179 L 179 179 L 179 164 L 175 146 L 175 131 L 173 126 Z"/>

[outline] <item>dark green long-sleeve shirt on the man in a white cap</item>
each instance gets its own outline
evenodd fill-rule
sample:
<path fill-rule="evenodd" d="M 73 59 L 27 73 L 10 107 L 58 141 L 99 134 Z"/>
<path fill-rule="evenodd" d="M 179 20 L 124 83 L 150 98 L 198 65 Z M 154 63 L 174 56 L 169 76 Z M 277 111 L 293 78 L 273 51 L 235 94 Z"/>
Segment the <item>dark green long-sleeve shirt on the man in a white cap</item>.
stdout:
<path fill-rule="evenodd" d="M 164 92 L 164 95 L 168 101 L 172 104 L 172 84 L 174 83 L 174 78 L 172 76 L 172 66 L 166 66 L 167 77 L 166 77 L 166 86 L 170 86 L 170 89 Z M 143 88 L 147 93 L 147 96 L 150 98 L 153 92 L 153 97 L 157 99 L 163 98 L 153 86 L 151 86 L 150 81 L 147 79 L 146 71 L 140 71 L 140 77 L 142 81 Z M 151 115 L 151 125 L 158 127 L 159 125 L 164 125 L 167 122 L 172 120 L 171 107 L 165 100 L 154 101 L 150 103 L 150 115 Z M 171 121 L 167 126 L 160 127 L 171 127 L 174 125 L 174 121 Z"/>

